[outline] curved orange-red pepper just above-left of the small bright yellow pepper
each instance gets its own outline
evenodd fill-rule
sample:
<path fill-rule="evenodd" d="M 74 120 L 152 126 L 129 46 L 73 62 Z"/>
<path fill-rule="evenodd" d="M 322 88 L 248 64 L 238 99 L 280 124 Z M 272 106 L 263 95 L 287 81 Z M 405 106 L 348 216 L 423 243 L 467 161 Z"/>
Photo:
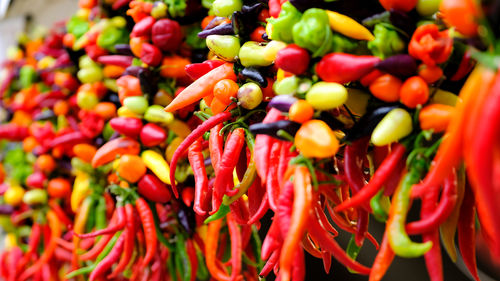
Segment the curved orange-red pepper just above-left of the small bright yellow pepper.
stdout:
<path fill-rule="evenodd" d="M 120 154 L 139 154 L 140 145 L 131 138 L 117 138 L 101 146 L 94 158 L 92 158 L 92 167 L 97 168 L 110 161 L 113 161 Z"/>

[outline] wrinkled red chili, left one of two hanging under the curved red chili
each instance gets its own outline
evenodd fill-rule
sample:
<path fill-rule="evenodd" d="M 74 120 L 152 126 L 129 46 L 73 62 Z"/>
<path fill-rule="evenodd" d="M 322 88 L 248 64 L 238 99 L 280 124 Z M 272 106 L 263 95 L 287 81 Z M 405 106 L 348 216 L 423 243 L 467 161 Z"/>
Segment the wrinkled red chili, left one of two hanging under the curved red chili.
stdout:
<path fill-rule="evenodd" d="M 217 127 L 215 127 L 217 128 Z M 212 139 L 212 138 L 211 138 Z M 194 173 L 195 198 L 193 210 L 200 216 L 206 214 L 208 209 L 208 178 L 205 170 L 205 159 L 203 157 L 201 140 L 197 139 L 189 146 L 189 164 Z"/>

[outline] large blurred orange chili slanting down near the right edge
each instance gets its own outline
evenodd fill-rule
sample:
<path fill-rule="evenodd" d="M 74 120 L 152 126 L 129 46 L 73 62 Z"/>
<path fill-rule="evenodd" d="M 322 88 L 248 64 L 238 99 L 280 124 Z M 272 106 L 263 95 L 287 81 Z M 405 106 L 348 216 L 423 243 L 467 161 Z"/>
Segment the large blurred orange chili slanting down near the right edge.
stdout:
<path fill-rule="evenodd" d="M 480 91 L 487 91 L 493 79 L 494 73 L 483 67 L 476 67 L 471 73 L 460 91 L 461 102 L 457 103 L 455 107 L 455 114 L 446 130 L 446 137 L 436 152 L 429 172 L 421 183 L 412 188 L 412 196 L 418 196 L 430 187 L 440 186 L 451 169 L 457 166 L 462 155 L 460 148 L 463 145 L 463 138 L 460 136 L 465 129 L 465 114 L 471 110 L 471 105 L 474 102 L 473 97 L 481 96 Z"/>

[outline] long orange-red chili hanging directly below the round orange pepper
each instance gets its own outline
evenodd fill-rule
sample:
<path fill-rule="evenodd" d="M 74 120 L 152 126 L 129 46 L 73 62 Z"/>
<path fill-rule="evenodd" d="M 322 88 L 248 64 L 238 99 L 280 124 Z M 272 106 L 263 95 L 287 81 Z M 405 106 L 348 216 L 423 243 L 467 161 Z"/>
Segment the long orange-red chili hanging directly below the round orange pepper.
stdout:
<path fill-rule="evenodd" d="M 280 257 L 281 280 L 290 280 L 290 271 L 299 242 L 306 230 L 309 209 L 312 202 L 312 185 L 309 170 L 296 167 L 294 172 L 294 201 L 289 235 L 286 236 Z"/>

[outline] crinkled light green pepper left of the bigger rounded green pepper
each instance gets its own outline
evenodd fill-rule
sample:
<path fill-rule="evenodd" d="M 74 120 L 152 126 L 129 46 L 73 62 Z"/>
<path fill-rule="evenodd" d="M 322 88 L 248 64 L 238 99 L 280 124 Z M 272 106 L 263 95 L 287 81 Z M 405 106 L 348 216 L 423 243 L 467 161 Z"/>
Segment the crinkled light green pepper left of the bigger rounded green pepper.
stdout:
<path fill-rule="evenodd" d="M 273 40 L 292 43 L 293 37 L 292 33 L 290 32 L 290 27 L 300 21 L 301 15 L 302 14 L 299 12 L 299 10 L 297 10 L 292 4 L 290 4 L 290 2 L 285 2 L 281 6 L 279 17 L 277 19 L 268 19 L 268 23 L 270 23 L 268 24 L 268 26 L 271 28 L 271 30 L 267 30 L 268 35 Z M 328 25 L 328 16 L 326 19 L 326 24 Z"/>

